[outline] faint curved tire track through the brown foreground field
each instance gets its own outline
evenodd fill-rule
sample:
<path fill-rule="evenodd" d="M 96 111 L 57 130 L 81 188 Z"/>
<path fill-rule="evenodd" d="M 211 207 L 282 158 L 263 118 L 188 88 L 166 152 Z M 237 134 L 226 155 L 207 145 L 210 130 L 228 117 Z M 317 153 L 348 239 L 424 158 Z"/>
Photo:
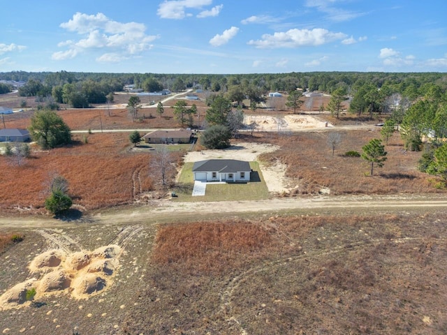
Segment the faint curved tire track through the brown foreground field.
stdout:
<path fill-rule="evenodd" d="M 332 248 L 331 250 L 325 250 L 325 251 L 319 251 L 316 253 L 306 253 L 305 251 L 302 251 L 302 253 L 295 255 L 295 256 L 289 256 L 284 258 L 278 258 L 277 260 L 271 260 L 269 262 L 265 262 L 263 265 L 260 265 L 258 267 L 253 267 L 251 269 L 248 269 L 247 271 L 242 272 L 241 274 L 233 277 L 230 281 L 228 281 L 226 290 L 224 290 L 221 293 L 221 304 L 218 308 L 218 311 L 216 312 L 217 315 L 223 313 L 223 315 L 226 315 L 226 321 L 228 323 L 233 323 L 233 327 L 230 326 L 230 328 L 237 328 L 240 334 L 247 334 L 247 331 L 243 328 L 242 322 L 238 320 L 238 317 L 240 318 L 244 314 L 239 315 L 232 315 L 233 310 L 233 292 L 237 288 L 240 287 L 240 285 L 246 283 L 249 281 L 249 278 L 251 276 L 255 276 L 259 272 L 266 271 L 272 267 L 281 267 L 286 266 L 290 264 L 291 262 L 298 262 L 305 260 L 307 258 L 321 258 L 325 255 L 332 255 L 334 253 L 339 253 L 341 251 L 348 250 L 356 250 L 358 248 L 364 248 L 365 246 L 377 246 L 379 244 L 383 244 L 385 242 L 394 242 L 395 244 L 402 244 L 402 243 L 408 243 L 408 242 L 414 242 L 414 241 L 422 241 L 426 239 L 427 237 L 402 237 L 398 239 L 373 239 L 371 241 L 358 241 L 357 243 L 351 243 L 351 244 L 344 244 L 341 246 L 336 246 L 335 248 Z M 446 242 L 447 239 L 445 238 L 438 238 L 436 241 L 442 241 Z"/>

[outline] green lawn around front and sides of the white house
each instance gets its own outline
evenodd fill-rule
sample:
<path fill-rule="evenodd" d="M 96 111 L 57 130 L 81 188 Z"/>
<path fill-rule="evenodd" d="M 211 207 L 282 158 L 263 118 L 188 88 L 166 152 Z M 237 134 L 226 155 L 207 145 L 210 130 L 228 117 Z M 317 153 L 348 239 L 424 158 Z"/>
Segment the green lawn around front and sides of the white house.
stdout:
<path fill-rule="evenodd" d="M 205 196 L 193 197 L 193 163 L 184 163 L 178 185 L 173 191 L 178 198 L 175 201 L 228 201 L 260 200 L 270 197 L 258 162 L 250 162 L 251 181 L 247 184 L 207 184 Z"/>

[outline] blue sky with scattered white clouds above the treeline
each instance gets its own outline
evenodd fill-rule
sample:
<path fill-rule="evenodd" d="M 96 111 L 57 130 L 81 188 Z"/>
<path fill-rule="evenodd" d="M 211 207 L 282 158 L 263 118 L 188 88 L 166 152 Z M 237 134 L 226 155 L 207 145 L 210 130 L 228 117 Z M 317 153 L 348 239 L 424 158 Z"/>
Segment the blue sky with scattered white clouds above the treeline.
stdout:
<path fill-rule="evenodd" d="M 446 0 L 2 1 L 0 72 L 447 72 Z"/>

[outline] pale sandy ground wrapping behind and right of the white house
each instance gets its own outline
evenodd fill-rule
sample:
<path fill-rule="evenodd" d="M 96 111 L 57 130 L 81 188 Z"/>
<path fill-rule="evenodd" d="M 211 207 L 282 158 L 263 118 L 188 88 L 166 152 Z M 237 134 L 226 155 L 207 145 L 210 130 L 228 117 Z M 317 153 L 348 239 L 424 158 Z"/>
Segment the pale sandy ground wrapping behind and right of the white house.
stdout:
<path fill-rule="evenodd" d="M 203 150 L 189 152 L 184 156 L 185 162 L 197 162 L 207 159 L 237 159 L 239 161 L 258 161 L 260 154 L 278 150 L 279 147 L 273 144 L 243 142 L 237 143 L 228 149 Z M 288 191 L 288 179 L 285 176 L 286 165 L 277 161 L 273 165 L 266 165 L 259 161 L 259 166 L 263 174 L 268 190 L 274 193 Z"/>

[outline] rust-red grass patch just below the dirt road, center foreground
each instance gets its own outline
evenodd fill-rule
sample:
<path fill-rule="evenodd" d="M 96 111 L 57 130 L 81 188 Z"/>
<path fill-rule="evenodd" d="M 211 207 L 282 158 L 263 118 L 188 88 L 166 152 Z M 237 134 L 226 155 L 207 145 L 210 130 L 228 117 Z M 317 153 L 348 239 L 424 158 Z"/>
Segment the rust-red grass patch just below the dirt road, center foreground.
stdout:
<path fill-rule="evenodd" d="M 247 221 L 169 225 L 157 232 L 152 259 L 192 273 L 221 272 L 271 244 L 268 230 Z"/>

